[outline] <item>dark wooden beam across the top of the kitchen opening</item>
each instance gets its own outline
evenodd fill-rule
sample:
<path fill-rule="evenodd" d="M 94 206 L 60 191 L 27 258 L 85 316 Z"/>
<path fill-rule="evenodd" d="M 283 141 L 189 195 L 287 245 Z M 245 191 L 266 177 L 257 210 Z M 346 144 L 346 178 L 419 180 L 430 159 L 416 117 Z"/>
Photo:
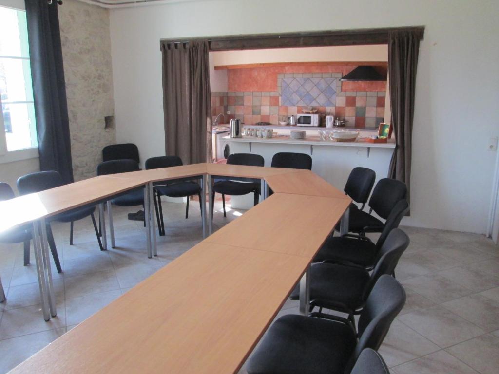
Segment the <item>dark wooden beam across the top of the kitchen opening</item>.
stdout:
<path fill-rule="evenodd" d="M 370 45 L 388 43 L 390 31 L 413 31 L 423 39 L 424 26 L 363 28 L 352 30 L 328 30 L 288 32 L 273 34 L 226 35 L 161 39 L 160 44 L 188 43 L 193 40 L 208 40 L 210 51 L 323 47 L 336 45 Z"/>

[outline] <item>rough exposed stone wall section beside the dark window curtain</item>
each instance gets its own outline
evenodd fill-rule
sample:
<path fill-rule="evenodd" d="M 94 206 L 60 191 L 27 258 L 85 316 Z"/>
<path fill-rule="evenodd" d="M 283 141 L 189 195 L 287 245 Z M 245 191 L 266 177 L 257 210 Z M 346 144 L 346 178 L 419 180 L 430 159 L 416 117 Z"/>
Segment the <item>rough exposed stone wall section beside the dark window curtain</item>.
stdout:
<path fill-rule="evenodd" d="M 102 148 L 116 143 L 109 11 L 76 0 L 59 6 L 74 179 L 95 176 Z"/>

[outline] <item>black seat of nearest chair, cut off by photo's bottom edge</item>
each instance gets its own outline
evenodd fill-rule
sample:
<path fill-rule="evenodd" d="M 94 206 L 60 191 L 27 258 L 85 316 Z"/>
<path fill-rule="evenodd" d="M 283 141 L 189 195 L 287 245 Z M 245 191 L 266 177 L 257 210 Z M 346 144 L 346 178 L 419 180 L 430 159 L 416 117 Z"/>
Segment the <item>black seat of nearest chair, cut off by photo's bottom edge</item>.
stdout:
<path fill-rule="evenodd" d="M 346 324 L 286 315 L 270 327 L 250 359 L 250 374 L 343 374 L 357 344 Z"/>

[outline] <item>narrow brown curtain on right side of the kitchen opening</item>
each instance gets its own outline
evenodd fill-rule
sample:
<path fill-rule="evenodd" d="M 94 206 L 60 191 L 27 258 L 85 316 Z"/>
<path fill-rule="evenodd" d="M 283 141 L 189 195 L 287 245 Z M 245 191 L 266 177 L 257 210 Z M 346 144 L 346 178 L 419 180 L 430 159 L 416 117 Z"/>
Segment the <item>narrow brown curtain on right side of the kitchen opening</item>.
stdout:
<path fill-rule="evenodd" d="M 390 31 L 388 40 L 390 104 L 396 141 L 388 176 L 407 185 L 408 200 L 410 197 L 412 125 L 420 38 L 421 32 Z"/>

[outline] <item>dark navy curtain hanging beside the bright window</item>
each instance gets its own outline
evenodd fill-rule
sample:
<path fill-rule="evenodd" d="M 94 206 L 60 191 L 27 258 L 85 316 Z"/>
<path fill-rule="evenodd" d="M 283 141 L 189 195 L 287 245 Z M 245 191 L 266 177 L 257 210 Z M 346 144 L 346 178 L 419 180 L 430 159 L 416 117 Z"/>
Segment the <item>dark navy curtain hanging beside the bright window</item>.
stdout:
<path fill-rule="evenodd" d="M 40 170 L 73 182 L 57 3 L 25 0 Z"/>

